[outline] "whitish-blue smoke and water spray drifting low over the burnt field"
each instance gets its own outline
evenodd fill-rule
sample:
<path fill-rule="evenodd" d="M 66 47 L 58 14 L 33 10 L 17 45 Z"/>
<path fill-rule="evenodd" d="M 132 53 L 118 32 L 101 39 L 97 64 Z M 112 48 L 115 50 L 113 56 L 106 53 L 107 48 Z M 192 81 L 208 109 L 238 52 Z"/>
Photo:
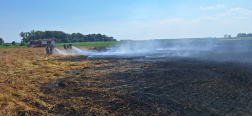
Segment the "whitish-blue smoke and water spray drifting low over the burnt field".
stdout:
<path fill-rule="evenodd" d="M 214 61 L 251 62 L 252 44 L 249 40 L 146 40 L 125 41 L 100 50 L 58 50 L 62 55 L 87 55 L 88 58 L 133 58 L 141 61 L 194 58 Z"/>

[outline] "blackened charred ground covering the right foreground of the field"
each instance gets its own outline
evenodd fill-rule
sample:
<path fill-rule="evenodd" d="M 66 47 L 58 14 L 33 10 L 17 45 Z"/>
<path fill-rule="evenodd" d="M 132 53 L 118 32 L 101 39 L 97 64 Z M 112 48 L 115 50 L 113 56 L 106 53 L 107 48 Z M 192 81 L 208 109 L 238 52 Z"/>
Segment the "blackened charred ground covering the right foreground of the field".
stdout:
<path fill-rule="evenodd" d="M 46 88 L 45 91 L 59 98 L 62 98 L 59 92 L 62 91 L 66 94 L 64 97 L 88 96 L 92 100 L 101 100 L 103 106 L 99 106 L 102 106 L 106 113 L 116 115 L 251 113 L 251 64 L 198 61 L 188 58 L 174 58 L 166 62 L 118 59 L 109 59 L 107 63 L 99 59 L 92 62 L 104 66 L 79 70 L 74 74 L 81 75 L 80 77 L 59 80 L 58 87 Z M 87 70 L 93 71 L 94 74 L 85 73 Z M 96 88 L 106 92 L 101 92 L 104 97 L 98 98 L 97 95 L 81 91 L 81 88 Z M 101 96 L 101 93 L 98 96 Z M 111 103 L 108 98 L 113 98 L 115 94 L 115 98 L 123 103 Z M 121 109 L 125 106 L 128 110 Z M 143 113 L 139 114 L 139 111 Z"/>

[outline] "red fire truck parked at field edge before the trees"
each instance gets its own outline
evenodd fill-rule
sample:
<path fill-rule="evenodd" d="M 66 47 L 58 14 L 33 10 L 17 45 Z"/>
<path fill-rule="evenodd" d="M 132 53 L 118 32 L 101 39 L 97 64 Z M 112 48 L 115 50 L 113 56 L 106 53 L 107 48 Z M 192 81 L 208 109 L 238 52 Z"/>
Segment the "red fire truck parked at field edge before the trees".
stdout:
<path fill-rule="evenodd" d="M 52 44 L 54 47 L 56 46 L 55 40 L 53 39 L 40 39 L 40 40 L 30 40 L 28 42 L 27 47 L 45 47 L 47 44 Z"/>

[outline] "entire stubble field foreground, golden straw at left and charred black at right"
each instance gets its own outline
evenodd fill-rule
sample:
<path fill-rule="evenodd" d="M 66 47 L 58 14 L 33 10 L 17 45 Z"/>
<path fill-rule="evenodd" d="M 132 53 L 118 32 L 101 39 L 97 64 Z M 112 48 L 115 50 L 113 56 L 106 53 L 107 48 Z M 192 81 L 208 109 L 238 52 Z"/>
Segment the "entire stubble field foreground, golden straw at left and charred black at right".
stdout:
<path fill-rule="evenodd" d="M 252 115 L 251 62 L 54 52 L 0 49 L 0 115 Z"/>

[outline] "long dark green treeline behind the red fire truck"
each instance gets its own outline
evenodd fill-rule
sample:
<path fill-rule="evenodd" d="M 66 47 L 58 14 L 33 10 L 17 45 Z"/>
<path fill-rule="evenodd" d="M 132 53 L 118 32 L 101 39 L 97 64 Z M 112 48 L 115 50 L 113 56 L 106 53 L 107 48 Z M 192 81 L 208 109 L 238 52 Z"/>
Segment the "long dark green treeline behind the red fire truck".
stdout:
<path fill-rule="evenodd" d="M 88 34 L 81 33 L 68 34 L 63 31 L 30 31 L 21 32 L 22 42 L 37 39 L 54 39 L 57 43 L 70 43 L 70 42 L 94 42 L 94 41 L 116 41 L 113 37 L 102 34 Z"/>

